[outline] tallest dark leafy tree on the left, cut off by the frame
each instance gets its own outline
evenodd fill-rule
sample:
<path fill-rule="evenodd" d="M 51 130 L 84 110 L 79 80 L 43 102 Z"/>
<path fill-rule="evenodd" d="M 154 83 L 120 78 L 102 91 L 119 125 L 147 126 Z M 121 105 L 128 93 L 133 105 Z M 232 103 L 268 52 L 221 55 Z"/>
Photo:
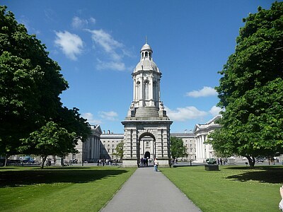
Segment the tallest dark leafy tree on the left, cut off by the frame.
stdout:
<path fill-rule="evenodd" d="M 68 88 L 45 45 L 0 6 L 0 155 L 18 153 L 20 139 L 57 116 Z"/>

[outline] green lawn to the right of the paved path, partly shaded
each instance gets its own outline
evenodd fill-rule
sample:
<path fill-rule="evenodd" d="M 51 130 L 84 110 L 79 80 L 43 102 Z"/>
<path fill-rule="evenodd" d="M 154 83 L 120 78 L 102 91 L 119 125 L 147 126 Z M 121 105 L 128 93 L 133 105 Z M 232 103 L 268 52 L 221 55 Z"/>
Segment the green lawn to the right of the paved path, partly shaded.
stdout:
<path fill-rule="evenodd" d="M 203 166 L 161 169 L 204 212 L 279 211 L 282 166 L 254 170 L 220 166 L 219 170 L 205 171 Z"/>

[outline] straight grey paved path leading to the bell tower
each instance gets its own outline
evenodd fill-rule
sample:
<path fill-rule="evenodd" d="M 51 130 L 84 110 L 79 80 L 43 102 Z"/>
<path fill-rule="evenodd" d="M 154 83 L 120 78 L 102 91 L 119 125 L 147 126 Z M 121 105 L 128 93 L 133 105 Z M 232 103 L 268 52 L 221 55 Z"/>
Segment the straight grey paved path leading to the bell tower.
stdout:
<path fill-rule="evenodd" d="M 101 212 L 200 211 L 162 172 L 140 167 Z"/>

